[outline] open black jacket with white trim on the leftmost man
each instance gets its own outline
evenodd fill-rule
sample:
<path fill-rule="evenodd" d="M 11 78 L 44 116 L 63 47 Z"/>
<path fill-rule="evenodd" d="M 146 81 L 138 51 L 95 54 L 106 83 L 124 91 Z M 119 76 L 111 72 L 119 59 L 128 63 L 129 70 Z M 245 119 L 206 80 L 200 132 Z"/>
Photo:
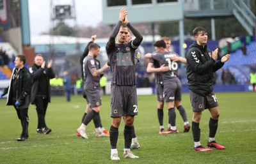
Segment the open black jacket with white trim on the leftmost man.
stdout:
<path fill-rule="evenodd" d="M 13 79 L 15 77 L 17 78 L 17 95 L 16 98 L 13 98 Z M 29 107 L 29 95 L 31 93 L 31 75 L 28 71 L 28 68 L 24 66 L 22 69 L 19 70 L 19 72 L 18 68 L 13 68 L 10 85 L 6 89 L 4 89 L 4 94 L 6 93 L 8 93 L 6 105 L 14 105 L 13 100 L 18 100 L 21 105 L 17 108 Z"/>

